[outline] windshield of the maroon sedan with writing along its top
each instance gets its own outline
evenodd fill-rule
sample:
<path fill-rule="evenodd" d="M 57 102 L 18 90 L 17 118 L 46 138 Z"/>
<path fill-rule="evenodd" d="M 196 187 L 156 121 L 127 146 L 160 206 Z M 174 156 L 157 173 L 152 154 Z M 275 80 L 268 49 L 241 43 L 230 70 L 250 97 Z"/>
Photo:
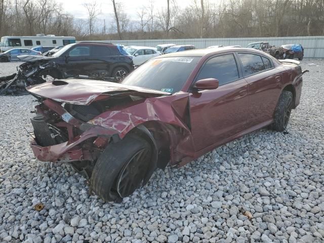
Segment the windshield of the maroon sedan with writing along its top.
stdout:
<path fill-rule="evenodd" d="M 151 59 L 136 68 L 121 82 L 169 93 L 180 91 L 201 57 Z"/>

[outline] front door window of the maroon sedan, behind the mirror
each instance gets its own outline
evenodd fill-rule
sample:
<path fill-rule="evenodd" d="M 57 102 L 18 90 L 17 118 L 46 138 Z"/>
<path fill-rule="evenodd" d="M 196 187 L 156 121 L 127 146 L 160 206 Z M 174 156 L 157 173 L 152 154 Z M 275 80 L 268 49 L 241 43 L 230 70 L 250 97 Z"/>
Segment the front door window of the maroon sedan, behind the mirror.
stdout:
<path fill-rule="evenodd" d="M 224 85 L 238 79 L 238 70 L 233 54 L 213 57 L 208 60 L 198 74 L 196 80 L 217 78 L 219 85 Z"/>

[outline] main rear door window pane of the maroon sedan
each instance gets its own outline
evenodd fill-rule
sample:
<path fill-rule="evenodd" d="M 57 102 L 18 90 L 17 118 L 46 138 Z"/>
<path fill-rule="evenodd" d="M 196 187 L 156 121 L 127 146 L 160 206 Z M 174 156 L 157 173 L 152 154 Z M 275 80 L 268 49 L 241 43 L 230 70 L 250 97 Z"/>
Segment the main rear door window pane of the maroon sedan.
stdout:
<path fill-rule="evenodd" d="M 249 76 L 251 74 L 264 70 L 264 64 L 261 56 L 247 53 L 239 53 L 239 59 L 243 65 L 243 75 Z"/>

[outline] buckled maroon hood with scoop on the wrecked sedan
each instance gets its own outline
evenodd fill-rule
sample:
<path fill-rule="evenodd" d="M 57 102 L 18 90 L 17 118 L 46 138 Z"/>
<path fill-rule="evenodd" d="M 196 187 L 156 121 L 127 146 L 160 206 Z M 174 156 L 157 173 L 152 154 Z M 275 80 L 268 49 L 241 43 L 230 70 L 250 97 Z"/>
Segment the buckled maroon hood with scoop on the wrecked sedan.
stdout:
<path fill-rule="evenodd" d="M 115 96 L 133 95 L 149 98 L 171 95 L 168 92 L 91 79 L 54 80 L 41 85 L 29 86 L 27 91 L 38 97 L 78 105 L 89 105 L 94 101 Z"/>

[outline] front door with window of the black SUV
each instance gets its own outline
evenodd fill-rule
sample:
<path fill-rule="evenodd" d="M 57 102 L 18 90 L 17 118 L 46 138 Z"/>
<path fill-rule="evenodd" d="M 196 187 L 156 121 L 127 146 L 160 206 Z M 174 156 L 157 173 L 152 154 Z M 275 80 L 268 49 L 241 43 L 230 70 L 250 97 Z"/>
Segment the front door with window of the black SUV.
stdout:
<path fill-rule="evenodd" d="M 65 63 L 67 74 L 88 75 L 91 72 L 90 46 L 75 46 L 65 53 Z"/>

